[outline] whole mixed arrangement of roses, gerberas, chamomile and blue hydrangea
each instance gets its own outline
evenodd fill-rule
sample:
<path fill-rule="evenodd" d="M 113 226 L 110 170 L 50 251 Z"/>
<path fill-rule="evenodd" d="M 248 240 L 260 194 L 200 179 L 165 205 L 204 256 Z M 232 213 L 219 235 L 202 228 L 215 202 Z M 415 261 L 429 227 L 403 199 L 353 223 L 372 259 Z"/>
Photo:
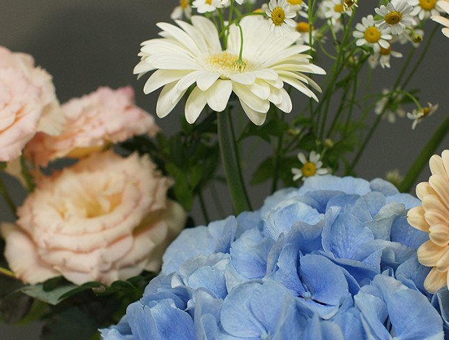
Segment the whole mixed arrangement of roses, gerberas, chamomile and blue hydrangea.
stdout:
<path fill-rule="evenodd" d="M 0 47 L 0 171 L 26 190 L 17 204 L 0 177 L 1 319 L 43 339 L 449 337 L 449 117 L 409 88 L 448 3 L 181 0 L 134 68 L 159 118 L 182 107 L 172 135 L 131 86 L 61 104 Z M 409 171 L 356 177 L 383 118 L 434 112 Z M 261 208 L 248 183 L 270 187 Z"/>

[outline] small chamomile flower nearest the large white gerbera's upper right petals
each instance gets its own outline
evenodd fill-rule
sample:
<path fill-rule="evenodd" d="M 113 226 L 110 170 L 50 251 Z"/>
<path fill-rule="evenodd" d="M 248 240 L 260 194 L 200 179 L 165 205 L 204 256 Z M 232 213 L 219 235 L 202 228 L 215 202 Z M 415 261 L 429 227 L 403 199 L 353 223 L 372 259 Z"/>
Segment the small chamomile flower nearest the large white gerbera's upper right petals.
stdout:
<path fill-rule="evenodd" d="M 276 37 L 289 33 L 296 26 L 292 19 L 296 17 L 296 12 L 291 10 L 287 0 L 270 0 L 265 13 L 270 18 L 270 31 L 274 32 Z"/>

